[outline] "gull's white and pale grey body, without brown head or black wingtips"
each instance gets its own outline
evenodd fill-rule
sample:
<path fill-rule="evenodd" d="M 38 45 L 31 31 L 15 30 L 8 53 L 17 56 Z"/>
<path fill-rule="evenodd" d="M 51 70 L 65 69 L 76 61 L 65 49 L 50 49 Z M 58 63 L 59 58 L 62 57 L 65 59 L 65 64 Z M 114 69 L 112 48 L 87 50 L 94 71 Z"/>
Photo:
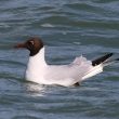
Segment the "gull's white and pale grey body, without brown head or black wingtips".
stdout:
<path fill-rule="evenodd" d="M 29 57 L 25 77 L 40 84 L 69 87 L 101 71 L 103 71 L 102 65 L 93 67 L 92 62 L 82 56 L 76 57 L 68 65 L 48 65 L 44 60 L 44 48 L 42 48 L 37 55 Z"/>

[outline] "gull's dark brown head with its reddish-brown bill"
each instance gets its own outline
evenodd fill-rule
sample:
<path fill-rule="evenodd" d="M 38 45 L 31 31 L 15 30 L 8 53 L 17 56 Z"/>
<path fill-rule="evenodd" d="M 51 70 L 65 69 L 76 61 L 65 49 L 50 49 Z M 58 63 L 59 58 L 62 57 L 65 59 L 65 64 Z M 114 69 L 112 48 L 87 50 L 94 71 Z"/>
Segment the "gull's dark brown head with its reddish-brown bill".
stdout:
<path fill-rule="evenodd" d="M 24 43 L 18 43 L 15 45 L 15 48 L 24 48 L 30 51 L 30 56 L 36 55 L 42 48 L 43 48 L 43 42 L 40 38 L 34 37 L 28 39 Z"/>

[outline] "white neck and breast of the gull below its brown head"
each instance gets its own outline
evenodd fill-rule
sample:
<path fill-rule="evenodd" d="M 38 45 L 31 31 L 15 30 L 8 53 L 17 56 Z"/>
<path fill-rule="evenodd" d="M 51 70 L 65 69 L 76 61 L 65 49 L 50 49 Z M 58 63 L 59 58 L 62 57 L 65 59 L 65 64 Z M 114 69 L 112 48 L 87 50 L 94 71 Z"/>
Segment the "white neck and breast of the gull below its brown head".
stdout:
<path fill-rule="evenodd" d="M 42 83 L 45 68 L 44 48 L 42 48 L 37 55 L 29 57 L 25 77 L 29 81 Z"/>

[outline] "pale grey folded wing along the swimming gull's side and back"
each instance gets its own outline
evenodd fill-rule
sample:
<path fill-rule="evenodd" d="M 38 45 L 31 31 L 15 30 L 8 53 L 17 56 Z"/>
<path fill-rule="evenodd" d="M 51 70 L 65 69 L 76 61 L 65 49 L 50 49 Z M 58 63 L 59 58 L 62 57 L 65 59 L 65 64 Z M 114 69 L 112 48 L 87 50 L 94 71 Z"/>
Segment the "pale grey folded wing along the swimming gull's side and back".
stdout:
<path fill-rule="evenodd" d="M 91 68 L 91 62 L 80 56 L 76 57 L 76 60 L 69 65 L 49 66 L 49 71 L 45 77 L 52 83 L 72 85 L 74 83 L 79 82 Z"/>

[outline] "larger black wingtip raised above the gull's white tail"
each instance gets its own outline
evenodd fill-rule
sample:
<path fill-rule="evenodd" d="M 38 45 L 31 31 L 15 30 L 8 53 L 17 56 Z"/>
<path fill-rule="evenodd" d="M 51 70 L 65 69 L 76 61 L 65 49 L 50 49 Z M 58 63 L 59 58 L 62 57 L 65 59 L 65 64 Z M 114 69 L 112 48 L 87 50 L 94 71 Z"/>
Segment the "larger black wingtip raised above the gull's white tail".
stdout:
<path fill-rule="evenodd" d="M 92 61 L 92 65 L 93 66 L 96 66 L 96 65 L 100 65 L 101 63 L 105 62 L 106 60 L 108 60 L 110 56 L 113 56 L 114 53 L 108 53 L 100 58 L 96 58 L 94 61 Z M 117 58 L 119 60 L 119 58 Z"/>

